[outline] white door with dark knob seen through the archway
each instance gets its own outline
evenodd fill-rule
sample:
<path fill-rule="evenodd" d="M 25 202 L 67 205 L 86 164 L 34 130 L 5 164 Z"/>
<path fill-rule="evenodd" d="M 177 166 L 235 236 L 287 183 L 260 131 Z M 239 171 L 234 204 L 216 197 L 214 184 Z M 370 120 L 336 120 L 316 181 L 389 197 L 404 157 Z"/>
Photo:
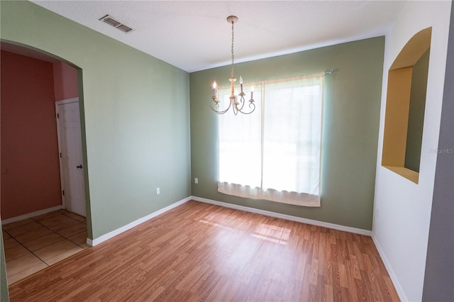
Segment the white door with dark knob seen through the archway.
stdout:
<path fill-rule="evenodd" d="M 85 206 L 79 99 L 57 101 L 55 109 L 57 111 L 63 206 L 68 211 L 85 217 L 87 208 Z"/>

